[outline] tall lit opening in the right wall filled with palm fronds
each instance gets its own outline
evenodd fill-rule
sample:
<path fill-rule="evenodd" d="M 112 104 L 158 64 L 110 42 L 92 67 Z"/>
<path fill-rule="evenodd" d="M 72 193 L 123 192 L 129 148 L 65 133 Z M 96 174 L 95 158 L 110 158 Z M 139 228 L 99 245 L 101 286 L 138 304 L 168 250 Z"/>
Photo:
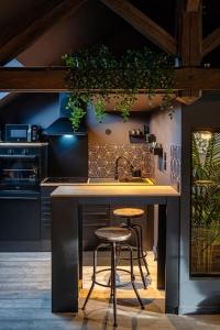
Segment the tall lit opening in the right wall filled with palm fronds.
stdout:
<path fill-rule="evenodd" d="M 193 274 L 211 275 L 217 246 L 220 248 L 220 133 L 197 132 L 193 134 Z"/>

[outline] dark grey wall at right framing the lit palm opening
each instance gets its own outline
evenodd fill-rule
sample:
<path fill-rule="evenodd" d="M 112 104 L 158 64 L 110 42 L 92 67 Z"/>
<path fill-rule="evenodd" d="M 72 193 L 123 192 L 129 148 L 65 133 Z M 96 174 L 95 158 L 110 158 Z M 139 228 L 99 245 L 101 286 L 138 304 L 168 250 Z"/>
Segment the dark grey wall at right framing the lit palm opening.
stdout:
<path fill-rule="evenodd" d="M 180 312 L 220 312 L 220 278 L 189 277 L 190 139 L 194 129 L 220 128 L 220 94 L 209 94 L 183 108 L 180 208 Z"/>

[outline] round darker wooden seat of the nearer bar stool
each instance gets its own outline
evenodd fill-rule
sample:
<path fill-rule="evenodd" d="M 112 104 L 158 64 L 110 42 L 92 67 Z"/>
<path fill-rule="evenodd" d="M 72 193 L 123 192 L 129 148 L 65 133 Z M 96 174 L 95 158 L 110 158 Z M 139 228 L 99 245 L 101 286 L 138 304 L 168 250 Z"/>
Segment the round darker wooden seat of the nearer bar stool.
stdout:
<path fill-rule="evenodd" d="M 95 231 L 100 240 L 108 242 L 123 242 L 130 239 L 131 231 L 121 227 L 103 227 Z"/>

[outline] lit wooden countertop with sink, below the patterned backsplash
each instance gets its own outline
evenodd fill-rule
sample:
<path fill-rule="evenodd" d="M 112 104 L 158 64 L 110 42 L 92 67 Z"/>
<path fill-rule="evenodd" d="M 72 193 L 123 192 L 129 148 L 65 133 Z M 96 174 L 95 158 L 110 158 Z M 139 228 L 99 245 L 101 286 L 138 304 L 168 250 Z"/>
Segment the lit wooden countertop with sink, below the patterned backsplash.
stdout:
<path fill-rule="evenodd" d="M 90 185 L 153 185 L 150 178 L 130 177 L 114 179 L 113 177 L 90 177 L 88 179 Z"/>

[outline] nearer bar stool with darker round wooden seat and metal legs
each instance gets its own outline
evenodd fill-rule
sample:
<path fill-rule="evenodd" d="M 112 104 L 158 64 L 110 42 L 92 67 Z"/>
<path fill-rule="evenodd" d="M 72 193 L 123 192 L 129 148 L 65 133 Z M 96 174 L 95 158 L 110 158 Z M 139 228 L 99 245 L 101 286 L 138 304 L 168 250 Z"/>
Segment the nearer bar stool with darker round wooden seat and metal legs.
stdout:
<path fill-rule="evenodd" d="M 117 327 L 117 288 L 128 286 L 131 284 L 134 289 L 134 293 L 136 295 L 136 298 L 139 300 L 141 308 L 144 309 L 144 305 L 142 302 L 142 299 L 141 299 L 139 292 L 134 284 L 135 277 L 134 277 L 134 273 L 133 273 L 132 246 L 124 243 L 131 237 L 131 231 L 125 228 L 121 228 L 121 227 L 105 227 L 105 228 L 100 228 L 100 229 L 96 230 L 95 234 L 98 239 L 100 239 L 105 243 L 100 243 L 94 251 L 94 274 L 91 276 L 92 284 L 88 292 L 86 300 L 84 302 L 82 310 L 86 308 L 89 297 L 94 290 L 95 284 L 103 286 L 103 287 L 109 287 L 111 289 L 110 301 L 111 301 L 111 299 L 113 299 L 113 326 Z M 117 267 L 117 249 L 119 246 L 124 246 L 130 251 L 130 271 Z M 97 254 L 98 254 L 98 250 L 100 250 L 101 248 L 111 248 L 111 267 L 101 270 L 101 271 L 97 271 Z M 102 283 L 98 282 L 97 274 L 107 272 L 107 271 L 111 272 L 110 283 L 102 284 Z M 129 273 L 131 275 L 131 280 L 123 283 L 123 284 L 117 284 L 117 271 Z"/>

